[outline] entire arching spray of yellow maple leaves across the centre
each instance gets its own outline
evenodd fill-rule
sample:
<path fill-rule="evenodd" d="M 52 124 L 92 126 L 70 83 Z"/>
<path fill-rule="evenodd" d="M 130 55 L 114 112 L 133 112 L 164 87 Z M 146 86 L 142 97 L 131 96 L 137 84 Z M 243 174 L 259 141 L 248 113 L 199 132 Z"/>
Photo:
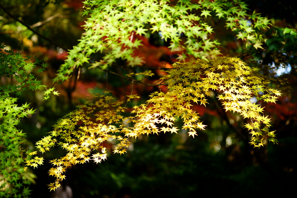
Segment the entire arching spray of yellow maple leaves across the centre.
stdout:
<path fill-rule="evenodd" d="M 151 74 L 148 72 L 146 75 Z M 67 150 L 66 156 L 52 160 L 50 175 L 56 177 L 50 189 L 59 187 L 59 181 L 65 178 L 67 167 L 93 160 L 96 163 L 106 159 L 107 151 L 103 142 L 108 138 L 119 141 L 115 153 L 124 153 L 129 146 L 128 138 L 140 134 L 158 134 L 175 132 L 177 117 L 183 119 L 182 129 L 188 130 L 193 137 L 196 130 L 205 125 L 199 120 L 198 113 L 191 110 L 194 102 L 206 105 L 206 96 L 211 90 L 217 90 L 226 111 L 235 111 L 247 118 L 246 127 L 252 134 L 251 144 L 263 145 L 263 135 L 276 142 L 274 132 L 269 132 L 270 119 L 264 117 L 263 108 L 250 102 L 254 96 L 266 102 L 274 102 L 281 93 L 269 87 L 271 77 L 262 75 L 258 68 L 247 66 L 239 58 L 218 57 L 215 60 L 197 60 L 173 64 L 173 69 L 162 78 L 168 83 L 168 92 L 154 92 L 146 104 L 135 106 L 130 117 L 123 117 L 126 102 L 114 102 L 111 96 L 94 95 L 84 105 L 64 116 L 54 126 L 50 135 L 37 142 L 39 151 L 46 152 L 54 145 Z M 286 87 L 279 87 L 285 91 Z M 139 97 L 130 95 L 128 102 Z M 129 123 L 129 124 L 127 124 Z M 31 155 L 37 152 L 31 153 Z M 27 161 L 29 166 L 40 164 L 38 157 Z"/>

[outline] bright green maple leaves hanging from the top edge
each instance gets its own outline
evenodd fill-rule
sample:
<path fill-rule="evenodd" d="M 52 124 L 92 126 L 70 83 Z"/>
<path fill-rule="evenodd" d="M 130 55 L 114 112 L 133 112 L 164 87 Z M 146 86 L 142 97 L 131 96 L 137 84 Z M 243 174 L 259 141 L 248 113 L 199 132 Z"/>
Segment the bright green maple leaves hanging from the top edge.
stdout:
<path fill-rule="evenodd" d="M 65 64 L 59 69 L 55 81 L 67 80 L 75 68 L 84 63 L 90 68 L 106 69 L 116 62 L 125 60 L 130 66 L 142 65 L 142 57 L 133 56 L 133 50 L 141 46 L 136 35 L 152 32 L 162 34 L 162 39 L 170 39 L 172 50 L 182 51 L 179 58 L 188 55 L 195 58 L 214 58 L 219 54 L 215 40 L 209 37 L 213 32 L 210 18 L 226 20 L 238 39 L 252 44 L 256 49 L 265 41 L 262 30 L 267 28 L 268 20 L 253 13 L 247 15 L 247 5 L 240 1 L 168 1 L 168 0 L 86 0 L 84 14 L 90 17 L 84 25 L 86 32 L 80 43 L 69 50 Z M 181 40 L 181 35 L 187 41 Z M 94 56 L 104 52 L 101 60 Z M 95 60 L 95 61 L 94 61 Z"/>

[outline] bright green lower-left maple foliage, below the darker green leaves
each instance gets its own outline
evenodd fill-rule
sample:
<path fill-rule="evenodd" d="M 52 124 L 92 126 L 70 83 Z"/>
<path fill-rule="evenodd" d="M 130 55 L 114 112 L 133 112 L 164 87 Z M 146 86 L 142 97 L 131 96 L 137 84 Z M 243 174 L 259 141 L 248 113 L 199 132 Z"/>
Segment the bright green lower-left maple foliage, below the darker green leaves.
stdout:
<path fill-rule="evenodd" d="M 18 107 L 16 98 L 0 96 L 0 196 L 27 197 L 29 180 L 22 175 L 25 155 L 21 144 L 26 141 L 22 131 L 15 126 L 20 119 L 34 112 L 28 104 Z M 22 193 L 20 193 L 22 192 Z"/>

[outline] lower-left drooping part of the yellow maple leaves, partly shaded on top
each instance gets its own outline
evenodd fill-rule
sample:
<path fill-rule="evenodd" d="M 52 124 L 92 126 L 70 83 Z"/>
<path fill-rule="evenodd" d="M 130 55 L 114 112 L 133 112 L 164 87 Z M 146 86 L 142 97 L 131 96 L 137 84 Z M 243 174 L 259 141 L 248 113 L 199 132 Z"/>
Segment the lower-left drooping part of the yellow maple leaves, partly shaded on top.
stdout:
<path fill-rule="evenodd" d="M 113 99 L 111 96 L 94 96 L 94 103 L 88 101 L 77 106 L 77 110 L 65 115 L 54 125 L 49 136 L 37 142 L 37 148 L 42 153 L 49 151 L 54 145 L 67 150 L 66 156 L 50 161 L 53 168 L 49 174 L 56 177 L 56 181 L 48 185 L 51 190 L 60 186 L 59 182 L 65 179 L 64 173 L 68 167 L 89 160 L 96 163 L 105 160 L 107 151 L 102 143 L 109 138 L 119 141 L 115 153 L 126 152 L 125 147 L 129 146 L 130 142 L 120 134 L 126 134 L 129 129 L 121 124 L 123 117 L 119 115 L 125 108 L 121 106 L 123 102 L 110 102 Z M 42 158 L 35 157 L 26 163 L 27 166 L 35 167 L 42 161 Z"/>

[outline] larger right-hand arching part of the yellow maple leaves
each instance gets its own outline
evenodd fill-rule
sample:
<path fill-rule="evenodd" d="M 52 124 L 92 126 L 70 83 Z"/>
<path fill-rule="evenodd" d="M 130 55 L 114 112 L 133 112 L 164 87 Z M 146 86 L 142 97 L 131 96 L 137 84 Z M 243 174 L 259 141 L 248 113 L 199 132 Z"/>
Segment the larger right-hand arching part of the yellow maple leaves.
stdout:
<path fill-rule="evenodd" d="M 158 133 L 156 123 L 165 123 L 161 131 L 175 132 L 170 129 L 171 121 L 175 116 L 184 119 L 183 129 L 189 129 L 189 135 L 196 134 L 196 129 L 203 129 L 199 116 L 190 109 L 192 102 L 207 103 L 206 96 L 210 96 L 211 90 L 217 90 L 219 100 L 226 111 L 240 113 L 249 122 L 246 127 L 252 134 L 251 144 L 255 147 L 263 145 L 262 135 L 269 136 L 270 141 L 277 142 L 274 132 L 269 132 L 270 119 L 260 115 L 263 108 L 253 104 L 250 99 L 254 96 L 265 102 L 275 102 L 281 95 L 277 89 L 269 87 L 271 81 L 276 78 L 261 74 L 257 67 L 249 67 L 239 58 L 219 57 L 215 60 L 196 60 L 187 63 L 173 64 L 173 69 L 162 80 L 168 79 L 167 93 L 153 93 L 147 101 L 154 106 L 135 107 L 135 129 L 132 137 L 139 134 Z M 289 89 L 287 81 L 282 86 L 282 91 Z"/>

